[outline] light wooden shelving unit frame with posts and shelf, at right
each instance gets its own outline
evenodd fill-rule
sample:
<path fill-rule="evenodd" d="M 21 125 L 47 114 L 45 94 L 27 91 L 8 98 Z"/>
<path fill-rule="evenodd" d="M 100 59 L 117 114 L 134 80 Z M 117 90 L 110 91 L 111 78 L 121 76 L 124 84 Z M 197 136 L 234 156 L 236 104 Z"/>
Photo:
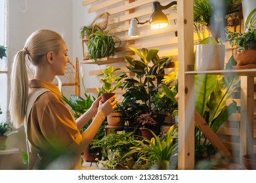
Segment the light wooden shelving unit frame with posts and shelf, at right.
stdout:
<path fill-rule="evenodd" d="M 193 1 L 178 1 L 179 159 L 178 169 L 194 169 L 194 75 L 241 76 L 240 159 L 253 152 L 254 77 L 256 69 L 190 71 L 194 65 Z"/>

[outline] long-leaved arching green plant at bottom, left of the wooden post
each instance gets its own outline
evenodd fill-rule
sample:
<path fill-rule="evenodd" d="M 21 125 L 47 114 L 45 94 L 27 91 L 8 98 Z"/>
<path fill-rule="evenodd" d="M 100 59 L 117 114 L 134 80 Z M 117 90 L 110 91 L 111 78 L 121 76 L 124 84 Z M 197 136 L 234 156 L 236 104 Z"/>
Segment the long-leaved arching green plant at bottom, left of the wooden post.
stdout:
<path fill-rule="evenodd" d="M 171 126 L 163 137 L 156 136 L 150 130 L 154 137 L 151 140 L 135 141 L 135 146 L 132 146 L 122 159 L 133 157 L 136 161 L 134 169 L 150 169 L 159 164 L 163 165 L 163 169 L 177 167 L 177 162 L 174 165 L 169 163 L 177 156 L 177 129 L 175 125 Z"/>

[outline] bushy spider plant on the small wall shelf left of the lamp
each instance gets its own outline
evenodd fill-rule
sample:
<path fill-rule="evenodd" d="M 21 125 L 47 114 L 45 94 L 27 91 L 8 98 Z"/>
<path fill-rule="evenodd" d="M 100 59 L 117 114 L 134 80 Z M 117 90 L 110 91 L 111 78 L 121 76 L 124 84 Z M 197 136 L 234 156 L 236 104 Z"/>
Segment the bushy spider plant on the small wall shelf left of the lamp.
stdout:
<path fill-rule="evenodd" d="M 110 35 L 110 31 L 104 33 L 102 30 L 98 29 L 95 33 L 91 33 L 88 42 L 88 55 L 90 59 L 96 61 L 98 58 L 115 56 L 116 42 L 118 42 L 118 46 L 120 46 L 121 40 L 115 35 Z"/>

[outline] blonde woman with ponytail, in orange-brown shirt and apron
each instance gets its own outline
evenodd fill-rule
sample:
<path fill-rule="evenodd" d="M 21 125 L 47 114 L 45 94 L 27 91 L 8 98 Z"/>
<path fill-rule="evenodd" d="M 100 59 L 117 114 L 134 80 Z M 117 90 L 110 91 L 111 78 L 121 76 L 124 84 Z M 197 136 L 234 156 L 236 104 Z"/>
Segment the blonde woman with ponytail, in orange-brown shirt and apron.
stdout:
<path fill-rule="evenodd" d="M 31 80 L 26 61 L 35 67 Z M 81 152 L 116 108 L 116 95 L 106 103 L 98 97 L 85 114 L 74 120 L 53 84 L 54 76 L 64 75 L 68 61 L 65 41 L 46 29 L 32 33 L 14 57 L 9 110 L 12 124 L 16 128 L 25 126 L 28 169 L 81 169 Z M 79 129 L 91 118 L 91 125 L 80 134 Z"/>

